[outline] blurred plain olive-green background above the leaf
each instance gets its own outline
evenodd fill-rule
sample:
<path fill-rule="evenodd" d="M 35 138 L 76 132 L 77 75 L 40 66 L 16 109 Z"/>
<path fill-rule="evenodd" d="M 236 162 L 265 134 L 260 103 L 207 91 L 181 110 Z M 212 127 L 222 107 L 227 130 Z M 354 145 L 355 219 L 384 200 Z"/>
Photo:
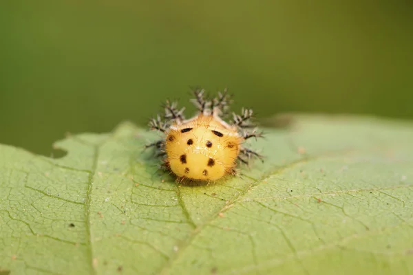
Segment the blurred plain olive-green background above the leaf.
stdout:
<path fill-rule="evenodd" d="M 0 143 L 145 125 L 189 87 L 235 109 L 413 117 L 412 1 L 0 3 Z"/>

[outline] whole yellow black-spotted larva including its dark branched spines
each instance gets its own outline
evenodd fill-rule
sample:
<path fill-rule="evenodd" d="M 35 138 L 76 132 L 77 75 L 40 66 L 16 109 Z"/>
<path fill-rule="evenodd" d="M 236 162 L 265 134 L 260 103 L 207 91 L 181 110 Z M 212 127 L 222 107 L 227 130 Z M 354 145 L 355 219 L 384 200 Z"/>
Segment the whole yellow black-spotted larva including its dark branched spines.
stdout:
<path fill-rule="evenodd" d="M 215 181 L 224 175 L 235 175 L 238 163 L 249 164 L 251 159 L 263 159 L 262 155 L 244 146 L 251 137 L 262 137 L 251 118 L 252 109 L 242 109 L 240 114 L 229 115 L 231 96 L 228 89 L 218 91 L 215 98 L 207 98 L 204 89 L 193 89 L 191 102 L 198 113 L 186 119 L 185 108 L 167 100 L 164 112 L 149 122 L 151 130 L 162 133 L 162 139 L 147 144 L 153 147 L 156 157 L 162 160 L 165 170 L 184 179 Z"/>

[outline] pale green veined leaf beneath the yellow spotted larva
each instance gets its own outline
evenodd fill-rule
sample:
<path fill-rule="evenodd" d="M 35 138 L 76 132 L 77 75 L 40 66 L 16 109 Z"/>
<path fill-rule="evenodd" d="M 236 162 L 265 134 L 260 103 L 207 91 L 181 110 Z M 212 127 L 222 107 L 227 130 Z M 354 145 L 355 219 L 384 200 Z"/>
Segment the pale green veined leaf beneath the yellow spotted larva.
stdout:
<path fill-rule="evenodd" d="M 413 126 L 297 116 L 266 162 L 209 185 L 158 170 L 125 123 L 0 146 L 0 270 L 10 274 L 412 274 Z M 3 271 L 4 273 L 4 271 Z"/>

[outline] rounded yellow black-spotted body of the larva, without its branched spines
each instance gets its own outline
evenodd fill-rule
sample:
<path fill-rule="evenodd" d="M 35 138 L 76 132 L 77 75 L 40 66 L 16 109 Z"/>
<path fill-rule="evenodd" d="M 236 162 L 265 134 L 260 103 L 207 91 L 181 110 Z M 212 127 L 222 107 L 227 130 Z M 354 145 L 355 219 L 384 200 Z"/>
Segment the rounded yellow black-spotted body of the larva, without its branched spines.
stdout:
<path fill-rule="evenodd" d="M 167 162 L 178 177 L 220 179 L 233 173 L 241 142 L 237 131 L 200 116 L 188 124 L 171 126 L 165 146 Z"/>

